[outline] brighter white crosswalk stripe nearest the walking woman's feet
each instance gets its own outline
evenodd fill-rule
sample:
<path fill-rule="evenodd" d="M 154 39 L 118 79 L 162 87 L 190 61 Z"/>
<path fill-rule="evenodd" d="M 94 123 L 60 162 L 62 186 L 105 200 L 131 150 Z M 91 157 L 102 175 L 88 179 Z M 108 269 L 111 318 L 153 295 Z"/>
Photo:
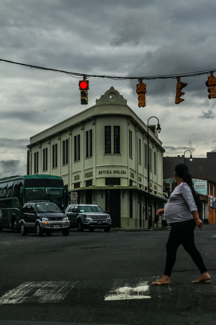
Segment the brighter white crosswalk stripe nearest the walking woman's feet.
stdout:
<path fill-rule="evenodd" d="M 127 299 L 146 299 L 151 298 L 149 295 L 149 285 L 147 281 L 138 283 L 137 286 L 129 287 L 128 285 L 120 287 L 113 286 L 104 300 L 127 300 Z"/>

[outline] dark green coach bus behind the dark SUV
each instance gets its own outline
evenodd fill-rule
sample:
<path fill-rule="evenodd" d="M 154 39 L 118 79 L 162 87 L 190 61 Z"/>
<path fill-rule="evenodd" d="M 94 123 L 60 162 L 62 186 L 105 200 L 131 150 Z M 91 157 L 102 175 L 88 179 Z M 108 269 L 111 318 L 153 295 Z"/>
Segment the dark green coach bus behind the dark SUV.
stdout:
<path fill-rule="evenodd" d="M 20 212 L 28 201 L 54 202 L 65 211 L 64 182 L 60 176 L 24 175 L 0 179 L 0 231 L 19 231 Z"/>

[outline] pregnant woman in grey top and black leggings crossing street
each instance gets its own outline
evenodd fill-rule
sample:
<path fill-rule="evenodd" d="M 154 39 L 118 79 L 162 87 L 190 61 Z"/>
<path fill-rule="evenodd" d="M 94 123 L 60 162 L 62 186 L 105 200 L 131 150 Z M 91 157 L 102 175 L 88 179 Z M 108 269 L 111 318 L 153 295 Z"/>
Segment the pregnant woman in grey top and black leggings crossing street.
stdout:
<path fill-rule="evenodd" d="M 191 175 L 188 174 L 187 165 L 180 163 L 174 170 L 174 178 L 177 187 L 174 189 L 164 209 L 159 209 L 157 215 L 165 214 L 166 222 L 171 230 L 166 244 L 165 272 L 161 279 L 152 282 L 152 285 L 171 283 L 171 272 L 176 262 L 176 252 L 182 244 L 198 267 L 201 276 L 191 283 L 210 282 L 210 275 L 204 265 L 202 256 L 194 243 L 194 229 L 197 226 L 202 229 L 202 221 L 199 219 L 199 198 L 193 188 Z"/>

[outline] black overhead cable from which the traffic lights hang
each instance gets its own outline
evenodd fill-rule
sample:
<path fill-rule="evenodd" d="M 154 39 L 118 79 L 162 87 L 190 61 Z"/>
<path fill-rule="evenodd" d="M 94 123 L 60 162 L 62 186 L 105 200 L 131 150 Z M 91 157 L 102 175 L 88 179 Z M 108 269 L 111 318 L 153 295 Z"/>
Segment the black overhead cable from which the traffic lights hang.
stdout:
<path fill-rule="evenodd" d="M 202 74 L 207 74 L 207 73 L 213 73 L 216 72 L 216 69 L 212 69 L 212 70 L 204 70 L 204 71 L 197 71 L 197 72 L 188 72 L 188 73 L 180 73 L 178 75 L 175 74 L 165 74 L 165 75 L 159 75 L 159 76 L 144 76 L 144 77 L 115 77 L 115 76 L 106 76 L 106 75 L 93 75 L 93 74 L 85 74 L 85 73 L 76 73 L 76 72 L 68 72 L 68 71 L 63 71 L 63 70 L 57 70 L 57 69 L 50 69 L 50 68 L 44 68 L 44 67 L 38 67 L 36 65 L 31 65 L 31 64 L 24 64 L 24 63 L 18 63 L 18 62 L 13 62 L 13 61 L 8 61 L 8 60 L 3 60 L 0 59 L 0 61 L 4 61 L 4 62 L 8 62 L 8 63 L 13 63 L 13 64 L 19 64 L 19 65 L 23 65 L 26 67 L 30 67 L 30 68 L 35 68 L 35 69 L 40 69 L 40 70 L 47 70 L 47 71 L 54 71 L 54 72 L 61 72 L 61 73 L 66 73 L 68 75 L 70 75 L 71 77 L 85 77 L 85 78 L 89 78 L 89 77 L 98 77 L 98 78 L 110 78 L 110 79 L 114 79 L 114 80 L 127 80 L 127 79 L 142 79 L 142 80 L 150 80 L 150 79 L 176 79 L 177 77 L 195 77 L 195 76 L 199 76 Z"/>

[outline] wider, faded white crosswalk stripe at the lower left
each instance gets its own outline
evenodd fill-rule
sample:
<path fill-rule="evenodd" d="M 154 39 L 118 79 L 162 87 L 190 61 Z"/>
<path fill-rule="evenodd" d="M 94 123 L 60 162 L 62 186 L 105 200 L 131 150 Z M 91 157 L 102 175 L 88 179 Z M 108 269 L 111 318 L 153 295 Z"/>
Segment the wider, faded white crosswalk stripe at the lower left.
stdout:
<path fill-rule="evenodd" d="M 0 305 L 22 303 L 55 303 L 63 300 L 78 281 L 26 282 L 6 292 Z"/>

